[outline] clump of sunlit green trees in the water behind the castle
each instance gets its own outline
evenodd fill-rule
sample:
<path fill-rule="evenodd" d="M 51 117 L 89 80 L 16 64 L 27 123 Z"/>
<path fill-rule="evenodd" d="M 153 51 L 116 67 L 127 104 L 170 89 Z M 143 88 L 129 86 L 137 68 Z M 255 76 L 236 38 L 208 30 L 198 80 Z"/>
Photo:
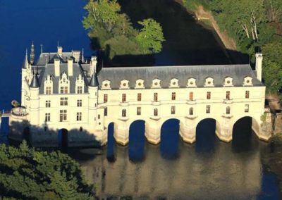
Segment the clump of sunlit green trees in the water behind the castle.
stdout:
<path fill-rule="evenodd" d="M 90 30 L 89 36 L 96 40 L 109 54 L 116 55 L 154 54 L 161 51 L 164 34 L 161 25 L 153 19 L 138 22 L 141 30 L 133 27 L 128 15 L 121 13 L 116 0 L 90 0 L 85 6 L 87 15 L 82 23 Z M 96 46 L 98 48 L 98 46 Z"/>

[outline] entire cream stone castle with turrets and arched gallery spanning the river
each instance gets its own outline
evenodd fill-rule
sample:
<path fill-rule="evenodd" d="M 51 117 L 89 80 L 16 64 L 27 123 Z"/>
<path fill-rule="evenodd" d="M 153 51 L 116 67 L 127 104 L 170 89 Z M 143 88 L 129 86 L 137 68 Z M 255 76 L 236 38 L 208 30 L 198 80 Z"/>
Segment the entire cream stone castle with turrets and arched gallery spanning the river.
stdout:
<path fill-rule="evenodd" d="M 145 135 L 160 142 L 161 125 L 180 120 L 180 136 L 195 142 L 197 124 L 216 120 L 216 135 L 229 142 L 234 123 L 252 117 L 252 128 L 261 139 L 270 134 L 261 128 L 265 87 L 262 54 L 256 54 L 256 70 L 250 65 L 197 65 L 102 68 L 97 59 L 85 59 L 80 51 L 42 52 L 34 61 L 32 45 L 22 68 L 22 100 L 25 115 L 10 118 L 11 137 L 26 127 L 37 145 L 56 146 L 58 130 L 68 132 L 69 146 L 106 144 L 107 129 L 128 143 L 130 125 L 145 120 Z M 21 127 L 21 128 L 20 128 Z"/>

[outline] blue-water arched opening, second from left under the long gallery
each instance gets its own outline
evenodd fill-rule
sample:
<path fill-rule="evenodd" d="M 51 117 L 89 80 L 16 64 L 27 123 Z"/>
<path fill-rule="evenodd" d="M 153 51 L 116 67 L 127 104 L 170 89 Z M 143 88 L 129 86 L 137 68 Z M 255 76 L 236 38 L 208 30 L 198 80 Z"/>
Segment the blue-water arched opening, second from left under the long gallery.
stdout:
<path fill-rule="evenodd" d="M 135 120 L 129 127 L 128 156 L 131 161 L 142 161 L 145 157 L 145 120 Z"/>

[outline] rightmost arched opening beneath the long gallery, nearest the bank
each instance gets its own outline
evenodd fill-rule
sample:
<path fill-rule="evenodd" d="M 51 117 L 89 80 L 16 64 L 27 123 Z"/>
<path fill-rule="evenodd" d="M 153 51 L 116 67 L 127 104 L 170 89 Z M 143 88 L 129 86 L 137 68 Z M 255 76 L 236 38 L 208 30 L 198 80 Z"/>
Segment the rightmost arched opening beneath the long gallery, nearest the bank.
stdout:
<path fill-rule="evenodd" d="M 233 151 L 250 151 L 258 145 L 258 139 L 253 129 L 257 130 L 259 124 L 252 117 L 243 117 L 238 119 L 232 130 L 232 149 Z"/>

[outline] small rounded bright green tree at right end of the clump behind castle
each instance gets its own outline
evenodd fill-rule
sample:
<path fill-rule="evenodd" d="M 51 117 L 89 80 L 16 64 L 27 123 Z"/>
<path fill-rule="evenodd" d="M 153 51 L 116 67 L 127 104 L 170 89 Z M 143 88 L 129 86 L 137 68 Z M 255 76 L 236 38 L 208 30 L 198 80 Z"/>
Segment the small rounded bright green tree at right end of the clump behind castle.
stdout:
<path fill-rule="evenodd" d="M 136 39 L 145 54 L 159 53 L 161 42 L 164 42 L 164 34 L 161 25 L 153 19 L 146 19 L 138 22 L 142 29 Z"/>

